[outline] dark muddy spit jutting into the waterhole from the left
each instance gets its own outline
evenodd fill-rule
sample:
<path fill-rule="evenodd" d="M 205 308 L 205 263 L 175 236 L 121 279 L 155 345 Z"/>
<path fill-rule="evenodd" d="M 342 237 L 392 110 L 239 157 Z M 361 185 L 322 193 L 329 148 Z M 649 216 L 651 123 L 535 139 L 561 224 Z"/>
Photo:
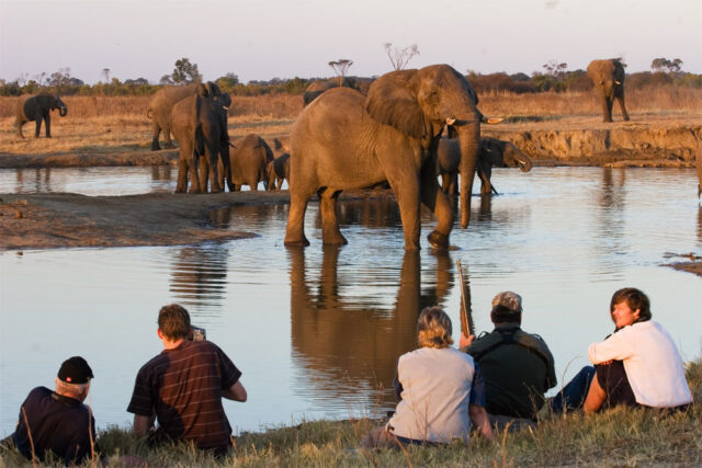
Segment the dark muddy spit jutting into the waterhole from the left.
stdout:
<path fill-rule="evenodd" d="M 0 195 L 0 250 L 176 246 L 256 236 L 212 227 L 214 208 L 287 203 L 286 192 Z M 281 233 L 282 236 L 283 233 Z"/>

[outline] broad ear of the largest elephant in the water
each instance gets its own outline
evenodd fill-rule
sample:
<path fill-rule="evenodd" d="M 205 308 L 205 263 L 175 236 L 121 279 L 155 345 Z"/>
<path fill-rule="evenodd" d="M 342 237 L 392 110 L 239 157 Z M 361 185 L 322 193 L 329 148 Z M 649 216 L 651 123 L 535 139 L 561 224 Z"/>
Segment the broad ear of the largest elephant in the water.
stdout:
<path fill-rule="evenodd" d="M 392 71 L 375 80 L 365 100 L 365 112 L 375 122 L 419 139 L 424 135 L 424 116 L 412 88 L 416 73 L 417 70 Z"/>

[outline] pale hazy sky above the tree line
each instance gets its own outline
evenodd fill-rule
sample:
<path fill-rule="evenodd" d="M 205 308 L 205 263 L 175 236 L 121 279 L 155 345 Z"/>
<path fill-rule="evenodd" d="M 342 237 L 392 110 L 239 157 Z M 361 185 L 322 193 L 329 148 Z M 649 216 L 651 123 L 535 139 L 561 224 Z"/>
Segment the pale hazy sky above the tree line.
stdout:
<path fill-rule="evenodd" d="M 0 79 L 63 68 L 87 83 L 158 82 L 176 60 L 205 80 L 392 71 L 384 44 L 417 44 L 408 68 L 466 73 L 568 70 L 622 57 L 627 72 L 680 58 L 702 73 L 702 0 L 0 0 Z"/>

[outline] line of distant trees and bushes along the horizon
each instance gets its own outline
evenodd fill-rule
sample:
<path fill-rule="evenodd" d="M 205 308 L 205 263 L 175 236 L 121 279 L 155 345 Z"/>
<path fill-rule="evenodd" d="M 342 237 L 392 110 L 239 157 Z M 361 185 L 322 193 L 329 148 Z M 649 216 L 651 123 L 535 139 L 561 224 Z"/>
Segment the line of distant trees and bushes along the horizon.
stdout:
<path fill-rule="evenodd" d="M 390 56 L 390 44 L 385 45 Z M 404 54 L 418 54 L 416 46 L 403 49 Z M 395 52 L 397 55 L 397 53 Z M 394 57 L 401 65 L 401 55 Z M 337 68 L 343 61 L 344 72 L 348 71 L 352 60 L 340 60 L 329 62 L 329 66 L 339 73 Z M 395 69 L 401 69 L 390 59 Z M 335 64 L 337 67 L 333 67 Z M 652 61 L 652 71 L 642 71 L 626 75 L 626 88 L 639 89 L 646 87 L 687 87 L 702 88 L 702 75 L 684 72 L 681 69 L 682 60 L 679 58 L 655 58 Z M 539 92 L 577 92 L 592 89 L 592 82 L 586 76 L 585 70 L 578 69 L 568 71 L 567 64 L 551 60 L 542 66 L 543 71 L 534 71 L 531 76 L 526 73 L 506 72 L 479 73 L 467 70 L 466 78 L 479 94 L 484 93 L 539 93 Z M 23 73 L 13 81 L 0 79 L 0 95 L 11 96 L 21 94 L 37 94 L 39 92 L 55 93 L 60 95 L 149 95 L 163 85 L 186 84 L 193 81 L 202 81 L 203 77 L 197 70 L 197 64 L 192 64 L 188 58 L 176 61 L 176 67 L 170 75 L 161 77 L 158 84 L 149 83 L 146 78 L 127 79 L 121 81 L 117 78 L 110 78 L 110 69 L 102 71 L 104 81 L 95 84 L 87 84 L 82 80 L 71 77 L 70 68 L 61 68 L 53 73 L 42 72 L 34 77 Z M 346 73 L 344 73 L 346 75 Z M 376 77 L 371 77 L 376 78 Z M 319 78 L 273 78 L 271 80 L 251 80 L 242 83 L 236 73 L 229 72 L 214 80 L 217 85 L 231 95 L 256 96 L 262 94 L 302 94 L 307 85 Z"/>

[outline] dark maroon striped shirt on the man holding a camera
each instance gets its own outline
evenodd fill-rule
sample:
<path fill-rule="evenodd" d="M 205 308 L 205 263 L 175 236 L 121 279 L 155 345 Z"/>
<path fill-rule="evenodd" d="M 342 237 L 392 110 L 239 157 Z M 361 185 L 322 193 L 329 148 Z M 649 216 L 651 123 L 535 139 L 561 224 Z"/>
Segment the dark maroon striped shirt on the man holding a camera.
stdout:
<path fill-rule="evenodd" d="M 193 441 L 200 448 L 230 445 L 231 426 L 222 406 L 222 390 L 241 372 L 210 341 L 184 341 L 146 363 L 136 376 L 127 411 L 156 416 L 173 440 Z"/>

